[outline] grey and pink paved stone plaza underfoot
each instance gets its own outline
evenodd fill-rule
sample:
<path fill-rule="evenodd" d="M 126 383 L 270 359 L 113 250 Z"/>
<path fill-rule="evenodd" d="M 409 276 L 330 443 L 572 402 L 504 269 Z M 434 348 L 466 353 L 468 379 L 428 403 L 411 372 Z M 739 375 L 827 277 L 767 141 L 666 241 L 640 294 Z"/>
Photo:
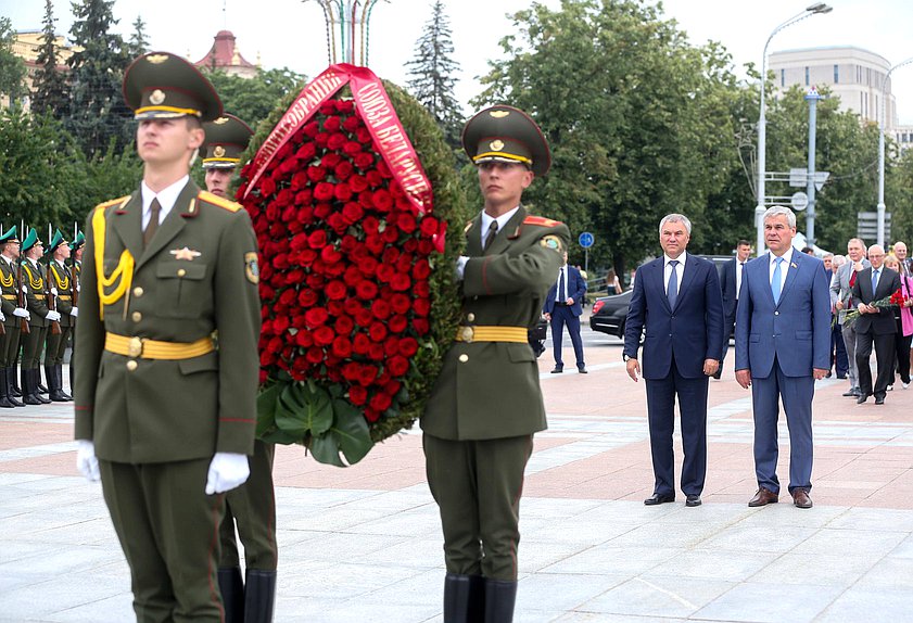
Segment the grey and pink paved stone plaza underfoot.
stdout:
<path fill-rule="evenodd" d="M 549 374 L 521 503 L 518 622 L 913 621 L 913 389 L 815 397 L 814 508 L 750 509 L 750 394 L 711 381 L 703 505 L 645 507 L 643 382 L 621 342 L 584 330 L 591 373 Z M 565 359 L 572 361 L 570 345 Z M 66 374 L 64 374 L 66 378 Z M 0 412 L 0 621 L 131 621 L 129 572 L 98 484 L 75 471 L 72 405 Z M 782 481 L 787 476 L 785 420 Z M 676 454 L 681 460 L 681 442 Z M 441 621 L 443 554 L 421 435 L 355 467 L 276 455 L 277 622 Z M 201 483 L 202 486 L 202 483 Z"/>

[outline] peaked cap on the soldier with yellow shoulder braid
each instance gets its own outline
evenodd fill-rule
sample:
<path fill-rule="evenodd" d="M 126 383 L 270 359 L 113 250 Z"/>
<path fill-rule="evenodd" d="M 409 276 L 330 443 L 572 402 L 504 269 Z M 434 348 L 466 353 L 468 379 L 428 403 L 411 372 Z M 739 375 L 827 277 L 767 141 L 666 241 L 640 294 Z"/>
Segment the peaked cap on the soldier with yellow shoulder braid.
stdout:
<path fill-rule="evenodd" d="M 221 100 L 193 64 L 170 52 L 150 52 L 124 74 L 124 101 L 137 119 L 185 115 L 211 122 L 221 116 Z"/>

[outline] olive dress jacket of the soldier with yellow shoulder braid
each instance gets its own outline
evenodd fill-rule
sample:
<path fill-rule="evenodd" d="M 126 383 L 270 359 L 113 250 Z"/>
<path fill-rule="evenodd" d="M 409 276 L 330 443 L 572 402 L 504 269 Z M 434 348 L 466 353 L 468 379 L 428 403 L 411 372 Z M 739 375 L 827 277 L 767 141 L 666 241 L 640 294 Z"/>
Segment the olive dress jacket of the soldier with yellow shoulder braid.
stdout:
<path fill-rule="evenodd" d="M 93 216 L 103 211 L 93 227 Z M 252 454 L 261 328 L 256 238 L 240 205 L 193 181 L 143 249 L 142 195 L 101 204 L 86 224 L 76 323 L 76 438 L 100 459 L 143 463 Z M 103 226 L 109 280 L 128 251 L 132 281 L 103 308 L 96 245 Z M 123 272 L 128 272 L 124 270 Z M 124 275 L 122 275 L 122 278 Z M 105 288 L 111 293 L 116 285 Z M 105 349 L 105 333 L 218 349 L 180 359 Z M 97 372 L 96 372 L 97 371 Z"/>

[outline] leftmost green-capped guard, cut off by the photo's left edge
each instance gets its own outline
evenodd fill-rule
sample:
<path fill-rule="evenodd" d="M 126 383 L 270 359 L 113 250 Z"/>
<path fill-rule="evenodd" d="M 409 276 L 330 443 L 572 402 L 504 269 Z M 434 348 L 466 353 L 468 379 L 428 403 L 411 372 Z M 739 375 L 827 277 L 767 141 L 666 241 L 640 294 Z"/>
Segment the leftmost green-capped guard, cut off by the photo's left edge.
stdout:
<path fill-rule="evenodd" d="M 20 305 L 25 301 L 18 280 L 20 245 L 15 225 L 0 234 L 0 321 L 3 323 L 3 333 L 0 334 L 0 407 L 4 408 L 25 406 L 17 399 L 22 394 L 15 390 L 20 329 L 23 322 L 28 327 L 28 312 Z"/>

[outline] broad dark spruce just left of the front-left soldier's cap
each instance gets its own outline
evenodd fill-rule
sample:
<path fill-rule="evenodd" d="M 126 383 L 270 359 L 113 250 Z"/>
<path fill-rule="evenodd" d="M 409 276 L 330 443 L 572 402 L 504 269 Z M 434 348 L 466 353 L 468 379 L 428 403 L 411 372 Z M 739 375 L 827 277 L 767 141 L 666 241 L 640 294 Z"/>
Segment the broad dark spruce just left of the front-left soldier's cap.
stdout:
<path fill-rule="evenodd" d="M 106 150 L 114 140 L 123 151 L 132 134 L 132 114 L 121 87 L 129 58 L 123 38 L 111 31 L 117 24 L 113 0 L 73 2 L 76 18 L 71 29 L 74 46 L 81 48 L 68 60 L 71 107 L 65 124 L 87 157 Z"/>

